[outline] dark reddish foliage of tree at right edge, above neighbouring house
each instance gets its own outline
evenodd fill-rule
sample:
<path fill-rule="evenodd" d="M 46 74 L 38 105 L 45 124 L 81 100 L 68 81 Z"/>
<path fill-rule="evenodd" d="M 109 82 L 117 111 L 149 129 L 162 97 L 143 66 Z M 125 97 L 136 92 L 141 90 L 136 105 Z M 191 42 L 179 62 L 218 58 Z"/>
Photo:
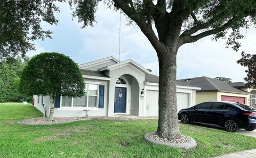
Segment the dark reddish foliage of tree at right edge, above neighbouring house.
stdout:
<path fill-rule="evenodd" d="M 237 60 L 237 63 L 247 67 L 245 70 L 247 77 L 244 78 L 246 85 L 256 89 L 256 55 L 245 54 L 243 51 L 242 58 Z"/>

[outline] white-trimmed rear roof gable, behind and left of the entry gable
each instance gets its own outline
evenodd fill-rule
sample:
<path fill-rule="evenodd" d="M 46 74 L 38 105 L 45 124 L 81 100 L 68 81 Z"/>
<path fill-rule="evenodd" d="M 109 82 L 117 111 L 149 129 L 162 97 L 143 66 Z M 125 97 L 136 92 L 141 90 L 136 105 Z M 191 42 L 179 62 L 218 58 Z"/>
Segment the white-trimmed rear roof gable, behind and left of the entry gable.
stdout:
<path fill-rule="evenodd" d="M 98 71 L 102 67 L 114 65 L 116 63 L 119 63 L 119 60 L 111 56 L 111 57 L 95 60 L 93 62 L 81 64 L 81 65 L 78 65 L 78 67 L 79 69 L 88 69 L 91 71 Z"/>

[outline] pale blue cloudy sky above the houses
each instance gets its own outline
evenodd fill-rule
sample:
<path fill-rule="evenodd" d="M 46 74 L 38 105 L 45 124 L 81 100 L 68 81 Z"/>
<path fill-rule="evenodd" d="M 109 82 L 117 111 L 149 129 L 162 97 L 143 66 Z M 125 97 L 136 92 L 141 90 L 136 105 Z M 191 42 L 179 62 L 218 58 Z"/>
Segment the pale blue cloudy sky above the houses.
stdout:
<path fill-rule="evenodd" d="M 60 52 L 69 56 L 78 64 L 113 56 L 119 59 L 119 12 L 98 7 L 97 23 L 93 27 L 82 29 L 82 24 L 71 16 L 67 3 L 59 3 L 60 13 L 56 14 L 59 23 L 42 23 L 43 29 L 50 29 L 53 39 L 34 41 L 36 51 L 29 51 L 32 57 L 40 52 Z M 239 51 L 226 48 L 225 40 L 212 41 L 205 37 L 179 48 L 177 55 L 177 79 L 199 76 L 227 77 L 233 82 L 244 81 L 245 67 L 236 61 L 241 51 L 255 54 L 256 29 L 242 30 L 245 38 L 241 40 Z M 148 39 L 138 26 L 128 26 L 126 17 L 121 15 L 121 61 L 133 59 L 158 75 L 158 58 Z"/>

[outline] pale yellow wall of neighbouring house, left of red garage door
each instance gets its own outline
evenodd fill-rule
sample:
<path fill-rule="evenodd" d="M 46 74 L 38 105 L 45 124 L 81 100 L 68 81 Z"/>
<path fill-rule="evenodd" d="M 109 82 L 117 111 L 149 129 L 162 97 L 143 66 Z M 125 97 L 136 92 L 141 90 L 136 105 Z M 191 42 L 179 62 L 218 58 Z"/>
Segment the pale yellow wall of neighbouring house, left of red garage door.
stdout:
<path fill-rule="evenodd" d="M 196 92 L 196 104 L 205 101 L 217 101 L 217 92 Z"/>

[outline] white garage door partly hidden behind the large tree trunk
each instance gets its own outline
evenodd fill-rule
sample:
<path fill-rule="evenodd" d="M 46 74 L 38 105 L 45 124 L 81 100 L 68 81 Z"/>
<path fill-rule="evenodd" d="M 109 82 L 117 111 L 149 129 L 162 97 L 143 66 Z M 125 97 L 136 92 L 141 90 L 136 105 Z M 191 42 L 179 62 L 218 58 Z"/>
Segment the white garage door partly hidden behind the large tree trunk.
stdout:
<path fill-rule="evenodd" d="M 158 91 L 146 92 L 146 116 L 158 116 Z M 177 93 L 178 111 L 188 108 L 188 93 Z"/>

